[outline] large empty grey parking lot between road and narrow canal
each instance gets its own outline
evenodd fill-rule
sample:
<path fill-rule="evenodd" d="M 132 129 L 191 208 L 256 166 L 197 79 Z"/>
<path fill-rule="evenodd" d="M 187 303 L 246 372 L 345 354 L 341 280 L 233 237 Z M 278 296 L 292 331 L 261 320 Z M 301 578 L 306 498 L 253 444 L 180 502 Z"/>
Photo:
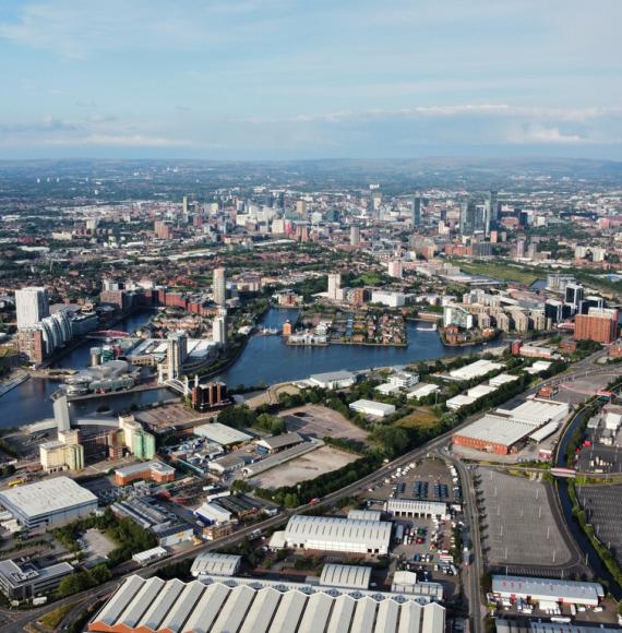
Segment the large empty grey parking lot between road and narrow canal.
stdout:
<path fill-rule="evenodd" d="M 549 485 L 477 469 L 482 549 L 489 564 L 559 568 L 571 551 L 551 511 Z M 525 570 L 527 571 L 527 570 Z"/>

